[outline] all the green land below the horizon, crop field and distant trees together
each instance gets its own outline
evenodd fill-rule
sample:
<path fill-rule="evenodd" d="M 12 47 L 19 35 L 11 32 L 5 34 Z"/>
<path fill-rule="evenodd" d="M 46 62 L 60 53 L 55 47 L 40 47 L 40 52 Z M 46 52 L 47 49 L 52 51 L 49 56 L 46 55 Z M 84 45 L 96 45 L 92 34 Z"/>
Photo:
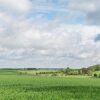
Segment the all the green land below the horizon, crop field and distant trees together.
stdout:
<path fill-rule="evenodd" d="M 94 67 L 1 69 L 0 100 L 100 100 L 100 71 Z"/>

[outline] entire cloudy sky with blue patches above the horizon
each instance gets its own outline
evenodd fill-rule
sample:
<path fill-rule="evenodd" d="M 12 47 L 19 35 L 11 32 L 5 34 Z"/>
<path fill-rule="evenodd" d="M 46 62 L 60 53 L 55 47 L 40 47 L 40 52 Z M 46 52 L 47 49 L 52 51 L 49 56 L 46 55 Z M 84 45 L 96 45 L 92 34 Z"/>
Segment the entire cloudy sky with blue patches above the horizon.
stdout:
<path fill-rule="evenodd" d="M 0 0 L 0 68 L 99 63 L 100 0 Z"/>

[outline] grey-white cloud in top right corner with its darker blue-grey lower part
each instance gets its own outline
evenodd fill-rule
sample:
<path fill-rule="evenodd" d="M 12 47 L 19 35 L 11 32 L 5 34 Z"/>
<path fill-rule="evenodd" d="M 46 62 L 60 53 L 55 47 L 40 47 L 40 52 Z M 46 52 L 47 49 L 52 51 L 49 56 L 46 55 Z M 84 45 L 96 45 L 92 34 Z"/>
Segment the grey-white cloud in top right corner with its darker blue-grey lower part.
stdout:
<path fill-rule="evenodd" d="M 86 15 L 86 24 L 100 25 L 99 0 L 69 0 L 68 9 L 83 12 Z"/>

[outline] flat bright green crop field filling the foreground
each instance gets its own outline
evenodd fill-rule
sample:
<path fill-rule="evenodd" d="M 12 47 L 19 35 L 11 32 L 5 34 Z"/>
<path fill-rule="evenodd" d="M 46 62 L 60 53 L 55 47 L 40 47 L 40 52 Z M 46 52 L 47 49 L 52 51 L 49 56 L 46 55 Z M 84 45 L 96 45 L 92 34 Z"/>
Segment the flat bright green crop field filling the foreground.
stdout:
<path fill-rule="evenodd" d="M 100 100 L 100 79 L 0 71 L 0 100 Z"/>

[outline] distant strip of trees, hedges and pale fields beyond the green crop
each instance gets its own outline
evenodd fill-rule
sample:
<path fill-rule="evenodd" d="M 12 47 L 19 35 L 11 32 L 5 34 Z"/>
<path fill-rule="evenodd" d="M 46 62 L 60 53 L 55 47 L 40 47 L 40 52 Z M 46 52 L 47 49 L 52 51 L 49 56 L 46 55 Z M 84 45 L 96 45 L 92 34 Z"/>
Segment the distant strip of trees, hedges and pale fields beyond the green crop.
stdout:
<path fill-rule="evenodd" d="M 100 74 L 100 65 L 90 66 L 88 68 L 81 68 L 81 69 L 70 69 L 67 67 L 66 69 L 25 69 L 20 70 L 20 74 L 27 74 L 27 75 L 34 75 L 34 76 L 67 76 L 67 75 L 87 75 L 87 76 L 94 76 L 99 77 Z"/>

